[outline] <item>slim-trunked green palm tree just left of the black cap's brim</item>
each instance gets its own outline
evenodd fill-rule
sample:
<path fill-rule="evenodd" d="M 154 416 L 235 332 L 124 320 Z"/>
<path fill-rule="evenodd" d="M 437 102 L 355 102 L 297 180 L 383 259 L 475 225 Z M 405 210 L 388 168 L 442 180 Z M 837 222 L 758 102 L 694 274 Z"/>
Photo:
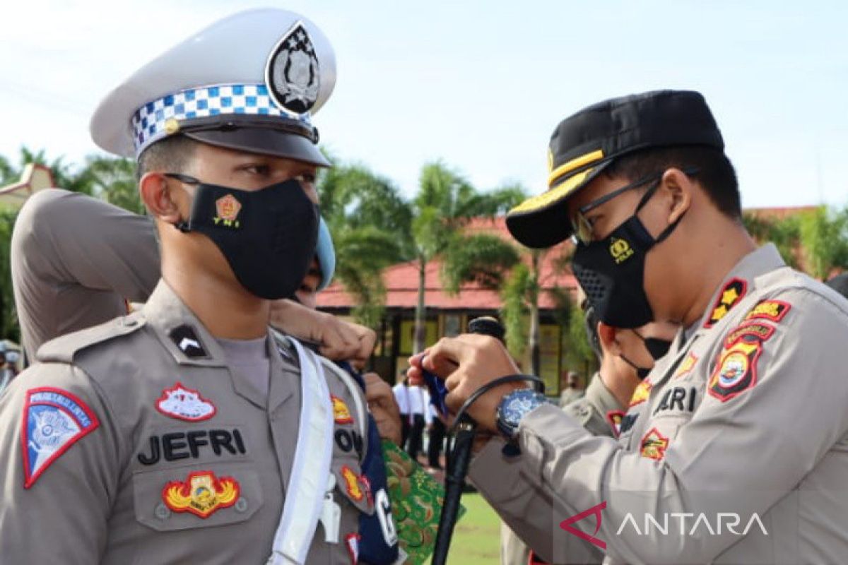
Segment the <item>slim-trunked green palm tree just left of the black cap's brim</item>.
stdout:
<path fill-rule="evenodd" d="M 444 258 L 442 278 L 453 290 L 458 289 L 462 280 L 499 280 L 500 273 L 516 263 L 514 250 L 507 251 L 494 236 L 465 235 L 463 228 L 472 218 L 491 218 L 504 213 L 523 197 L 516 186 L 478 192 L 464 177 L 440 161 L 427 163 L 421 169 L 418 192 L 411 202 L 414 217 L 411 235 L 418 263 L 415 353 L 425 346 L 427 263 L 436 256 Z M 489 263 L 486 267 L 488 259 L 499 261 L 501 266 L 492 269 L 494 263 Z"/>

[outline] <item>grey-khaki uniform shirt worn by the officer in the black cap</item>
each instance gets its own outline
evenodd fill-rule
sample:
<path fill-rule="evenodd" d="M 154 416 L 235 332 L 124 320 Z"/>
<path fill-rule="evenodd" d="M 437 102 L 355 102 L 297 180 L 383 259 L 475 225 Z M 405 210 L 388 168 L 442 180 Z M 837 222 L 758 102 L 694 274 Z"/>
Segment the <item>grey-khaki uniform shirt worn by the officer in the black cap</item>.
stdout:
<path fill-rule="evenodd" d="M 846 344 L 845 298 L 762 247 L 678 333 L 619 440 L 538 407 L 522 456 L 494 440 L 471 477 L 553 562 L 588 540 L 608 562 L 845 562 Z M 581 513 L 583 539 L 561 525 Z"/>

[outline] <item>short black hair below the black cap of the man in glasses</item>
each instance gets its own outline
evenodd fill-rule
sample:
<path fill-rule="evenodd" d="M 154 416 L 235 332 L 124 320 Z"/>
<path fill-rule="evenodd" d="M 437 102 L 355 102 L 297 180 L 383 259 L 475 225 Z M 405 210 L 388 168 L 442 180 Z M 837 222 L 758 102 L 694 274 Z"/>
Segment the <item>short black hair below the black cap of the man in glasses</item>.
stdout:
<path fill-rule="evenodd" d="M 637 181 L 666 169 L 697 169 L 692 174 L 716 208 L 728 218 L 742 219 L 739 181 L 733 163 L 721 149 L 707 146 L 651 147 L 616 158 L 604 173 Z"/>

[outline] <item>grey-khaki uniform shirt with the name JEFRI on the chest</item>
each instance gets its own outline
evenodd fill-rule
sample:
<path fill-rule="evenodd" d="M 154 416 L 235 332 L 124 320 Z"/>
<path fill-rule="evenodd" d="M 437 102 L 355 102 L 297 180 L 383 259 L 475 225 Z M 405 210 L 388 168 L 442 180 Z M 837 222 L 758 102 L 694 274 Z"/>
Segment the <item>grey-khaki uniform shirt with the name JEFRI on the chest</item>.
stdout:
<path fill-rule="evenodd" d="M 262 395 L 163 282 L 142 311 L 42 346 L 0 396 L 0 561 L 265 562 L 301 403 L 273 343 Z M 341 522 L 336 544 L 319 523 L 308 562 L 347 563 L 373 501 L 354 398 L 326 381 Z"/>

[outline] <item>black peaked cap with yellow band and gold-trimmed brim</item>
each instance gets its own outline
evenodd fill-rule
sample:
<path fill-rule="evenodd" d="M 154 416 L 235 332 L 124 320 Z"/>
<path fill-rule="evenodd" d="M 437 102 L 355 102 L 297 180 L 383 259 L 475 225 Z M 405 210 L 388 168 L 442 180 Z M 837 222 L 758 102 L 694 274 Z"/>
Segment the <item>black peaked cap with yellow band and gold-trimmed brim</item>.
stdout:
<path fill-rule="evenodd" d="M 550 137 L 548 191 L 506 216 L 522 245 L 548 247 L 572 235 L 567 202 L 618 157 L 648 147 L 724 148 L 704 97 L 695 91 L 652 91 L 612 98 L 562 120 Z"/>

